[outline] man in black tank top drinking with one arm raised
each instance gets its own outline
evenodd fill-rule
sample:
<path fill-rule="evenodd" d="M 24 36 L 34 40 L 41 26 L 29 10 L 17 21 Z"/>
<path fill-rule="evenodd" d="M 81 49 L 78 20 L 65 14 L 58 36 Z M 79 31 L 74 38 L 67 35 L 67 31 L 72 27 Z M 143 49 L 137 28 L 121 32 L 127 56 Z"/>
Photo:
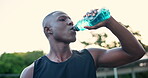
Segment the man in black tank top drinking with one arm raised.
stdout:
<path fill-rule="evenodd" d="M 94 15 L 95 10 L 89 15 Z M 44 33 L 50 42 L 50 52 L 26 67 L 20 78 L 96 78 L 99 67 L 117 67 L 140 59 L 145 50 L 136 38 L 112 16 L 95 26 L 108 28 L 122 47 L 113 49 L 88 48 L 71 50 L 69 44 L 76 41 L 73 22 L 61 11 L 47 15 L 43 20 Z"/>

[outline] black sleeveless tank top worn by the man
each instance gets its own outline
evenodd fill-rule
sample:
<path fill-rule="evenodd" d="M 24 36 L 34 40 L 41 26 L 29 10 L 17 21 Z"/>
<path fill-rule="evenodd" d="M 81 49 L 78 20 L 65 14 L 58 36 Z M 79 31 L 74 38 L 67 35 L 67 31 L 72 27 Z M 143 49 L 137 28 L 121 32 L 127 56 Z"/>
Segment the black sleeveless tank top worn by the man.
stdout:
<path fill-rule="evenodd" d="M 73 50 L 64 62 L 53 62 L 42 56 L 34 62 L 33 78 L 96 78 L 94 60 L 88 50 Z"/>

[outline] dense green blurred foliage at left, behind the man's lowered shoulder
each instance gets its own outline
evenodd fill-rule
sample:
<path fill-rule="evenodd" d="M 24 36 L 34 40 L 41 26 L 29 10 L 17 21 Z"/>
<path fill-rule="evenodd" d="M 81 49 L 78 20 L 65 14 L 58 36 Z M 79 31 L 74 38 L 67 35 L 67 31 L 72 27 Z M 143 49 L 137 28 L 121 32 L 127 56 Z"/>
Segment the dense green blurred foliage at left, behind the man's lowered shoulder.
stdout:
<path fill-rule="evenodd" d="M 43 51 L 3 53 L 0 57 L 0 74 L 20 74 L 26 66 L 43 55 Z"/>

